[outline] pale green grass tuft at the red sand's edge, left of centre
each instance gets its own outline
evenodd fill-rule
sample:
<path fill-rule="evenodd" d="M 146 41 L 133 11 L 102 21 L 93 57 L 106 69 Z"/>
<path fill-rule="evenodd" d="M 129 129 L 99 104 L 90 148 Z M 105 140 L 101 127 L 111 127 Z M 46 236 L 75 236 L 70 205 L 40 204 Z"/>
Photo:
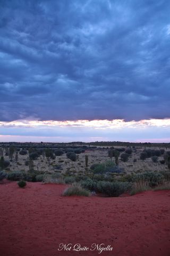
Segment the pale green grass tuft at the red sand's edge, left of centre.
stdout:
<path fill-rule="evenodd" d="M 82 188 L 80 183 L 72 183 L 71 187 L 64 190 L 63 196 L 89 196 L 90 191 Z"/>

